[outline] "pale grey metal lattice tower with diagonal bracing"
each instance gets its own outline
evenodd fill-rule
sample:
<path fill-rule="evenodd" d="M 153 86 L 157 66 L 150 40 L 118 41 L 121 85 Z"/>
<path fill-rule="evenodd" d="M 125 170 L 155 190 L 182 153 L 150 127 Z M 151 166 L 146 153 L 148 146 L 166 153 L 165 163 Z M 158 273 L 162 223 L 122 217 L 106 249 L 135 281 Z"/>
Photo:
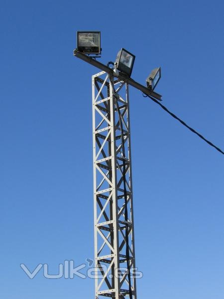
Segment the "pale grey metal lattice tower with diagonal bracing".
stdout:
<path fill-rule="evenodd" d="M 106 70 L 108 72 L 108 68 Z M 95 266 L 99 270 L 95 294 L 96 299 L 129 299 L 126 244 L 129 243 L 131 273 L 134 273 L 135 269 L 135 250 L 128 84 L 119 79 L 114 80 L 114 77 L 111 82 L 107 72 L 92 76 Z M 113 88 L 119 94 L 118 109 Z M 117 110 L 120 111 L 122 119 L 126 156 L 122 156 Z M 124 216 L 123 160 L 126 173 L 127 222 Z M 128 242 L 125 237 L 125 223 L 128 224 Z M 137 299 L 136 280 L 133 277 L 131 291 L 132 299 Z"/>

